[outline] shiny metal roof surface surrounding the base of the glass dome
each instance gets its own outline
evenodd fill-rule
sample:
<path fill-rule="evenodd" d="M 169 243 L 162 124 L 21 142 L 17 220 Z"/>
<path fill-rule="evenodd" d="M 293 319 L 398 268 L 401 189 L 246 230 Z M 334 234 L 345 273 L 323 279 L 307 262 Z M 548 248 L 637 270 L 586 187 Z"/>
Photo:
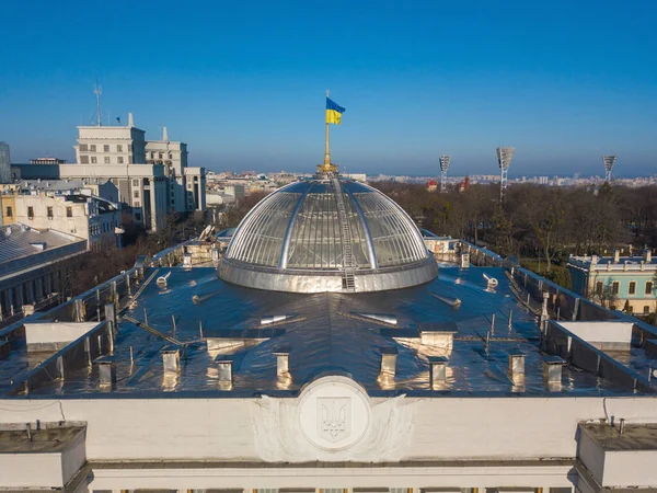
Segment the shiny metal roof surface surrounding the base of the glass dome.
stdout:
<path fill-rule="evenodd" d="M 371 397 L 652 392 L 649 383 L 625 378 L 633 369 L 622 363 L 601 376 L 551 356 L 535 297 L 522 291 L 518 275 L 452 266 L 406 289 L 304 295 L 231 285 L 212 267 L 151 267 L 132 284 L 111 342 L 101 344 L 103 321 L 64 349 L 28 352 L 24 337 L 12 341 L 0 364 L 0 394 L 20 398 L 27 387 L 31 398 L 286 397 L 325 374 L 348 375 Z M 99 291 L 106 289 L 116 287 Z M 94 334 L 112 355 L 91 357 Z M 632 351 L 649 363 L 643 349 Z"/>

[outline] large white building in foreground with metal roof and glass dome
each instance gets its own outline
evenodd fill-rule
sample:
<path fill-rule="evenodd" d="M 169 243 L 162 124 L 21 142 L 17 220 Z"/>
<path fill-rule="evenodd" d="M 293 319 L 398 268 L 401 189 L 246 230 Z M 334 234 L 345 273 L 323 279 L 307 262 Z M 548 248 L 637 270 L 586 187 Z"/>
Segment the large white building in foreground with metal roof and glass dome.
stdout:
<path fill-rule="evenodd" d="M 220 278 L 203 248 L 0 332 L 2 488 L 657 488 L 655 328 L 466 244 L 439 271 L 395 204 L 330 176 L 256 206 Z"/>

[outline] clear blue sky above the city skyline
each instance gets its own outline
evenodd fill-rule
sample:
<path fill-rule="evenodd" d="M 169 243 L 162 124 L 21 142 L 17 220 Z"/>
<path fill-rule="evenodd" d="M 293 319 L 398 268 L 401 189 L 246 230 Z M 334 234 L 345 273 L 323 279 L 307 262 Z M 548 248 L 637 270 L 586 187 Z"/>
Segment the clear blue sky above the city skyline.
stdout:
<path fill-rule="evenodd" d="M 347 171 L 657 172 L 657 2 L 4 2 L 0 140 L 71 161 L 103 119 L 186 141 L 189 164 L 312 171 L 324 92 Z"/>

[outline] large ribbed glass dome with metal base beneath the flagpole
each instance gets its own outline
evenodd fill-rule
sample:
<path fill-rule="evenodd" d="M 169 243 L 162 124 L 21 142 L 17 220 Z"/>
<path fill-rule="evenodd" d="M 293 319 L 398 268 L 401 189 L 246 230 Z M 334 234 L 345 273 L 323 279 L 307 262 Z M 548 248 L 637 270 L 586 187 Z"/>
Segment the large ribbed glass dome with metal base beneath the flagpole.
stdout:
<path fill-rule="evenodd" d="M 244 217 L 219 264 L 228 282 L 281 291 L 373 291 L 426 283 L 437 264 L 411 218 L 343 177 L 291 183 Z"/>

